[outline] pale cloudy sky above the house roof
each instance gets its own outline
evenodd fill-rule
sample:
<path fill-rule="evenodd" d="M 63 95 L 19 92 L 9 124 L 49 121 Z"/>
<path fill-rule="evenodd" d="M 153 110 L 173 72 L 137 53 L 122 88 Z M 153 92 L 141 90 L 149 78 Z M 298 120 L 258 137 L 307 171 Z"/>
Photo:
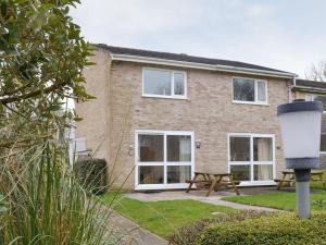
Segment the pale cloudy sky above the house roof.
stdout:
<path fill-rule="evenodd" d="M 82 0 L 92 44 L 236 60 L 304 77 L 326 60 L 326 0 Z"/>

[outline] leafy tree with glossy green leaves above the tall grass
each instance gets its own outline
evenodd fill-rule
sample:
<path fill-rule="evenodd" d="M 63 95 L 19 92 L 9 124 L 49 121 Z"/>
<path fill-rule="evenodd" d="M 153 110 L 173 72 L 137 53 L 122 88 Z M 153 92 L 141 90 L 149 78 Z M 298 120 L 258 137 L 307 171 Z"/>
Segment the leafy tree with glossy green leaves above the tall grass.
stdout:
<path fill-rule="evenodd" d="M 86 100 L 88 44 L 68 16 L 78 0 L 0 0 L 0 152 L 53 138 Z"/>

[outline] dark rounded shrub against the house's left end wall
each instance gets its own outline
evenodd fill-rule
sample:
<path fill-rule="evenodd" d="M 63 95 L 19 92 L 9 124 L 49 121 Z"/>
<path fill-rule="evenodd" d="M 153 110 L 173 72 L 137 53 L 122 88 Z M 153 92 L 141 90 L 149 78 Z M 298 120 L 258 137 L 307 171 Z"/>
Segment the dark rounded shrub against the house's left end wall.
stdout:
<path fill-rule="evenodd" d="M 93 194 L 101 195 L 106 189 L 106 161 L 98 158 L 79 159 L 75 171 L 82 185 Z"/>

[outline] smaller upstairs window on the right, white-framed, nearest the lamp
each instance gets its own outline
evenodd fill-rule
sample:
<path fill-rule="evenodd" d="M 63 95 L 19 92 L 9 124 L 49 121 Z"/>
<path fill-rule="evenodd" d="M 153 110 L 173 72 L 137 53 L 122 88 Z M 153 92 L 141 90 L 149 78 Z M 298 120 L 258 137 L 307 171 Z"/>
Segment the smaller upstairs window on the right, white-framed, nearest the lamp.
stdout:
<path fill-rule="evenodd" d="M 267 105 L 267 82 L 263 79 L 234 77 L 233 102 Z"/>

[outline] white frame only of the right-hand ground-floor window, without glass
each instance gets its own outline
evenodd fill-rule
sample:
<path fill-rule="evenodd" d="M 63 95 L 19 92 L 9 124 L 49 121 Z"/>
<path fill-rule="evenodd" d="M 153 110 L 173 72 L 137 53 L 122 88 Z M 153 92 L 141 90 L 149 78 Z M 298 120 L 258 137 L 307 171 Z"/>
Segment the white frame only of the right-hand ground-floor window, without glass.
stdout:
<path fill-rule="evenodd" d="M 250 138 L 250 159 L 249 161 L 231 161 L 230 160 L 230 137 L 249 137 Z M 272 147 L 273 147 L 273 159 L 272 161 L 254 161 L 253 160 L 253 138 L 272 138 Z M 231 166 L 250 166 L 250 181 L 241 181 L 240 186 L 252 186 L 252 185 L 275 185 L 274 179 L 276 176 L 276 160 L 275 160 L 275 134 L 252 134 L 252 133 L 228 133 L 227 134 L 227 149 L 228 149 L 228 173 L 230 173 Z M 254 181 L 254 166 L 273 166 L 273 180 L 268 181 Z"/>

